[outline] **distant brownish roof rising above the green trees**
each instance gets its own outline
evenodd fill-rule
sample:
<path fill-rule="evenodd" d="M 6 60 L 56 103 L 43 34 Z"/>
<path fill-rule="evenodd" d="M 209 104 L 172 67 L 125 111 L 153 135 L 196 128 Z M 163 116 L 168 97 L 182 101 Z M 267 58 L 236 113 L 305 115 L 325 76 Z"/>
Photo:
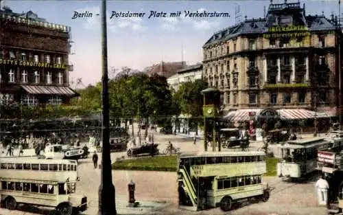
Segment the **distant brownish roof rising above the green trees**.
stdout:
<path fill-rule="evenodd" d="M 185 62 L 161 62 L 157 65 L 152 65 L 151 67 L 146 67 L 143 73 L 147 73 L 148 76 L 153 74 L 158 74 L 158 76 L 163 76 L 169 78 L 173 76 L 178 69 L 185 67 Z"/>

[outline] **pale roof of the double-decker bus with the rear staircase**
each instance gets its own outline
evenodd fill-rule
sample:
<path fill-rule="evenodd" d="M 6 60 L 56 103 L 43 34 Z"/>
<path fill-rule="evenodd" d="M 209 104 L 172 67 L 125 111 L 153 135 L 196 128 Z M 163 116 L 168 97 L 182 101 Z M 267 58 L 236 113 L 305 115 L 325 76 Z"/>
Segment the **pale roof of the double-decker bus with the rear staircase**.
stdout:
<path fill-rule="evenodd" d="M 180 154 L 181 158 L 185 157 L 230 157 L 230 156 L 253 156 L 265 155 L 264 152 L 184 152 Z"/>

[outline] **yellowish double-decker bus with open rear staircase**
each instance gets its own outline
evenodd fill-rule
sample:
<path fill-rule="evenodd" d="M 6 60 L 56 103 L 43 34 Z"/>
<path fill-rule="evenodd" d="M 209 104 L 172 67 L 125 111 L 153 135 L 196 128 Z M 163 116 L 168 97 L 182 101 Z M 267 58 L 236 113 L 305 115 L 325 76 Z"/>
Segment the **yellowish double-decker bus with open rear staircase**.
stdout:
<path fill-rule="evenodd" d="M 229 211 L 235 202 L 270 197 L 261 180 L 263 152 L 182 153 L 178 163 L 179 206 L 185 210 L 219 206 Z"/>

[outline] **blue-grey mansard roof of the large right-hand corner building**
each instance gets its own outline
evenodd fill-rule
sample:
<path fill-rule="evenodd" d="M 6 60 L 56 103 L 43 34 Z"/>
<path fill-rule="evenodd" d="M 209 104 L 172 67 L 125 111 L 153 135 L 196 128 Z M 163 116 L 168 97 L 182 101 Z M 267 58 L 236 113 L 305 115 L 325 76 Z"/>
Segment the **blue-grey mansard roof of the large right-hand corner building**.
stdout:
<path fill-rule="evenodd" d="M 265 18 L 246 19 L 237 25 L 227 27 L 220 32 L 216 32 L 209 38 L 203 47 L 213 43 L 227 41 L 230 38 L 242 34 L 263 34 L 268 32 L 268 27 L 276 26 L 276 20 L 281 14 L 292 15 L 294 25 L 305 25 L 309 31 L 316 30 L 335 30 L 336 23 L 333 19 L 329 20 L 325 16 L 305 16 L 305 4 L 300 8 L 300 3 L 271 3 L 268 14 Z"/>

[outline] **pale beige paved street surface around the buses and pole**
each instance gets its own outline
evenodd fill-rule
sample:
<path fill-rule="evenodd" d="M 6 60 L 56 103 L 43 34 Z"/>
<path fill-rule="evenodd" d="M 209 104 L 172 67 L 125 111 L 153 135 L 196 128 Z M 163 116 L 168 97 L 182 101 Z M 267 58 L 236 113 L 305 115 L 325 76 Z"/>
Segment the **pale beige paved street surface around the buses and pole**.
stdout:
<path fill-rule="evenodd" d="M 137 130 L 135 130 L 137 131 Z M 166 147 L 170 140 L 174 146 L 182 151 L 202 150 L 200 141 L 194 145 L 189 137 L 178 135 L 161 135 L 154 133 L 155 142 L 160 143 L 160 150 Z M 259 143 L 254 143 L 259 147 Z M 32 153 L 26 150 L 25 155 Z M 14 152 L 16 154 L 16 152 Z M 112 161 L 125 156 L 126 152 L 111 154 Z M 101 158 L 101 157 L 100 157 Z M 82 214 L 97 214 L 97 190 L 100 183 L 100 169 L 94 169 L 91 157 L 79 161 L 78 172 L 81 181 L 78 183 L 77 194 L 85 194 L 88 197 L 89 208 Z M 127 184 L 130 180 L 136 183 L 136 199 L 142 207 L 131 209 L 126 207 L 128 199 Z M 206 210 L 203 212 L 187 212 L 177 209 L 178 194 L 176 187 L 176 172 L 147 172 L 147 171 L 113 171 L 113 182 L 116 188 L 117 211 L 119 214 L 225 214 L 220 209 Z M 274 190 L 267 203 L 251 203 L 240 205 L 236 210 L 226 214 L 257 215 L 257 214 L 327 214 L 324 207 L 318 207 L 316 201 L 315 181 L 316 178 L 306 183 L 293 183 L 282 181 L 277 177 L 264 178 Z M 0 214 L 48 214 L 47 210 L 25 208 L 22 211 L 8 211 L 1 209 Z"/>

